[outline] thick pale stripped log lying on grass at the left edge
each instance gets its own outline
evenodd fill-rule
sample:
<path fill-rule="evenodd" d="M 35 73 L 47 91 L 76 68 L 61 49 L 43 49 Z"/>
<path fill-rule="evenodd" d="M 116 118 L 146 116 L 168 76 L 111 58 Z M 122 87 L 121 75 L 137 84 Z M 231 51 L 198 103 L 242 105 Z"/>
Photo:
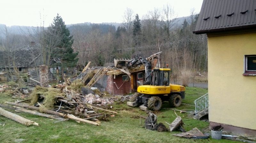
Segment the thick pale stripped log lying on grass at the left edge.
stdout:
<path fill-rule="evenodd" d="M 2 115 L 4 117 L 7 117 L 9 119 L 12 119 L 13 121 L 16 121 L 20 124 L 24 124 L 26 126 L 29 126 L 31 124 L 34 124 L 34 125 L 38 126 L 38 123 L 33 122 L 31 120 L 28 120 L 28 119 L 26 119 L 24 117 L 21 117 L 19 115 L 13 114 L 12 112 L 6 111 L 3 108 L 0 108 L 0 115 Z"/>

